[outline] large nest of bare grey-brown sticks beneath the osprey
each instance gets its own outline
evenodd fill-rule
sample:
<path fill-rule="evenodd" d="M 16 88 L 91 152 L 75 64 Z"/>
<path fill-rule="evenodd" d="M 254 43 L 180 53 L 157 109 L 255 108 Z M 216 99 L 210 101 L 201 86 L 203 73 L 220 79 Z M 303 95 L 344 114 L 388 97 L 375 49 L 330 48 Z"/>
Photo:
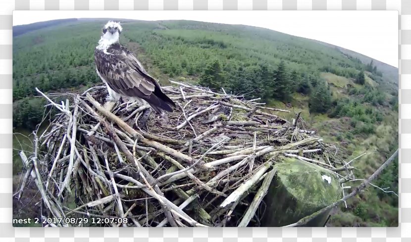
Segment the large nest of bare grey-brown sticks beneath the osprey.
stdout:
<path fill-rule="evenodd" d="M 39 188 L 43 216 L 75 221 L 47 226 L 261 226 L 282 157 L 352 175 L 334 145 L 300 129 L 300 115 L 288 121 L 289 111 L 258 99 L 172 84 L 162 89 L 177 108 L 165 116 L 105 102 L 104 87 L 60 94 L 61 103 L 38 90 L 58 113 L 35 133 L 33 154 L 20 152 L 25 179 Z"/>

